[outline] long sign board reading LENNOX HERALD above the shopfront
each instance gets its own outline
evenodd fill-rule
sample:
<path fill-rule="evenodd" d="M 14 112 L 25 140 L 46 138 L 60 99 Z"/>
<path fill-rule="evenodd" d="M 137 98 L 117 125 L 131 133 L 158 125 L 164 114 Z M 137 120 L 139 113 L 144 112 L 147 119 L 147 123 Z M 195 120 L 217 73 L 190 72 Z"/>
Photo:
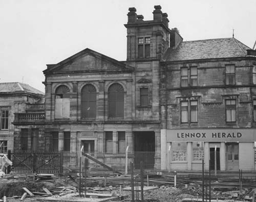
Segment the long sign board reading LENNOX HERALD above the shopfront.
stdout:
<path fill-rule="evenodd" d="M 164 131 L 164 130 L 163 130 Z M 167 142 L 254 142 L 255 129 L 166 130 Z"/>

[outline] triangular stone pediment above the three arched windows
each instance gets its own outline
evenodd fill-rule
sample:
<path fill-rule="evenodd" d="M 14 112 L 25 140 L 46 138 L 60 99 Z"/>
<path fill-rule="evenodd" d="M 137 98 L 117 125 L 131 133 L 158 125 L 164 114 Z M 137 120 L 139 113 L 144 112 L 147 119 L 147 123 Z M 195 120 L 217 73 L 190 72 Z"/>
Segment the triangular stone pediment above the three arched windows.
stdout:
<path fill-rule="evenodd" d="M 104 56 L 89 48 L 55 65 L 47 65 L 44 73 L 94 72 L 94 71 L 133 71 L 125 63 Z"/>

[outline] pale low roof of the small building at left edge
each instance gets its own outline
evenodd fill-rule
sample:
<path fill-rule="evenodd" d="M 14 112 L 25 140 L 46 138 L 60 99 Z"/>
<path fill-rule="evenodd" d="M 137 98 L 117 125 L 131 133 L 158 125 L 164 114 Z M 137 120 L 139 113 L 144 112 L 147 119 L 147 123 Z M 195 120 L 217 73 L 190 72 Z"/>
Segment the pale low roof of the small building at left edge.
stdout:
<path fill-rule="evenodd" d="M 0 83 L 0 93 L 7 92 L 24 92 L 24 93 L 35 93 L 44 95 L 45 93 L 31 87 L 28 84 L 23 84 L 19 82 L 11 82 L 11 83 Z"/>

